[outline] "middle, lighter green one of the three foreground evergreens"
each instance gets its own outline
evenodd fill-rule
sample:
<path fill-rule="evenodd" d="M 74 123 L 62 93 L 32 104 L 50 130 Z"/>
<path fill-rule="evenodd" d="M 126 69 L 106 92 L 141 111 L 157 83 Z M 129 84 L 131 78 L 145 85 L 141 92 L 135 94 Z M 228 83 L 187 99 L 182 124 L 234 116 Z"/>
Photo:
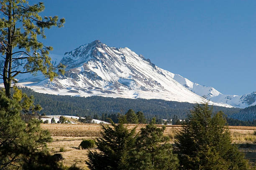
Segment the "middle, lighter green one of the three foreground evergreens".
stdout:
<path fill-rule="evenodd" d="M 176 170 L 179 167 L 169 137 L 164 136 L 165 126 L 157 128 L 155 123 L 154 118 L 146 128 L 141 128 L 131 152 L 129 170 Z"/>

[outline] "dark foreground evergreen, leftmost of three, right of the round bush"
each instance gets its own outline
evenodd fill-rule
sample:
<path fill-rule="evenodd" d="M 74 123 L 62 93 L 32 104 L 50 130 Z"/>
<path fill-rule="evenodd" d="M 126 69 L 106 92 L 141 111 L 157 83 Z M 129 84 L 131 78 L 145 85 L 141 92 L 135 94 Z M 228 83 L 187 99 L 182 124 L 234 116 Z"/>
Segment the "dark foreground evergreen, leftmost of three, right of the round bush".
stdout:
<path fill-rule="evenodd" d="M 116 125 L 111 122 L 102 126 L 102 137 L 96 140 L 100 152 L 89 151 L 88 161 L 90 170 L 127 170 L 128 153 L 133 147 L 135 128 L 128 130 L 123 123 Z"/>

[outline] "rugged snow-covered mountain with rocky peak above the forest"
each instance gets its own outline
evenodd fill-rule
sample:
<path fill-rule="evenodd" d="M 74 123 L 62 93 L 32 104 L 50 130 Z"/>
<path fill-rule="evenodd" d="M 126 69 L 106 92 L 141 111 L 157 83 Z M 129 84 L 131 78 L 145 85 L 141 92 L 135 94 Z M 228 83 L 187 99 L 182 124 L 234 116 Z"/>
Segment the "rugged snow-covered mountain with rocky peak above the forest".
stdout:
<path fill-rule="evenodd" d="M 198 85 L 163 70 L 127 47 L 108 47 L 99 40 L 81 45 L 66 52 L 64 56 L 50 56 L 54 65 L 59 62 L 66 65 L 64 75 L 59 75 L 50 82 L 40 73 L 36 77 L 20 74 L 16 77 L 20 80 L 18 85 L 56 95 L 154 98 L 190 103 L 206 102 L 210 99 L 210 104 L 225 107 L 246 107 L 246 104 L 241 103 L 249 105 L 253 101 L 244 97 L 238 102 L 226 102 L 225 97 L 221 98 L 222 94 L 212 87 Z M 236 101 L 234 95 L 226 96 Z M 213 100 L 214 97 L 219 98 Z"/>

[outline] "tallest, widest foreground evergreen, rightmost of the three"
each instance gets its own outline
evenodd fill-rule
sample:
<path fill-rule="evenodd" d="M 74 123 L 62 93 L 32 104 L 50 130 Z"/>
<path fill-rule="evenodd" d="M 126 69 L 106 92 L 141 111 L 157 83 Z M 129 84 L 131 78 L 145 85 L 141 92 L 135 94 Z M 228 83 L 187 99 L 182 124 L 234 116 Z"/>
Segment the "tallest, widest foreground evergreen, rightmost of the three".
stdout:
<path fill-rule="evenodd" d="M 243 154 L 232 145 L 223 112 L 212 115 L 208 105 L 196 105 L 187 125 L 176 135 L 182 170 L 247 170 Z"/>

